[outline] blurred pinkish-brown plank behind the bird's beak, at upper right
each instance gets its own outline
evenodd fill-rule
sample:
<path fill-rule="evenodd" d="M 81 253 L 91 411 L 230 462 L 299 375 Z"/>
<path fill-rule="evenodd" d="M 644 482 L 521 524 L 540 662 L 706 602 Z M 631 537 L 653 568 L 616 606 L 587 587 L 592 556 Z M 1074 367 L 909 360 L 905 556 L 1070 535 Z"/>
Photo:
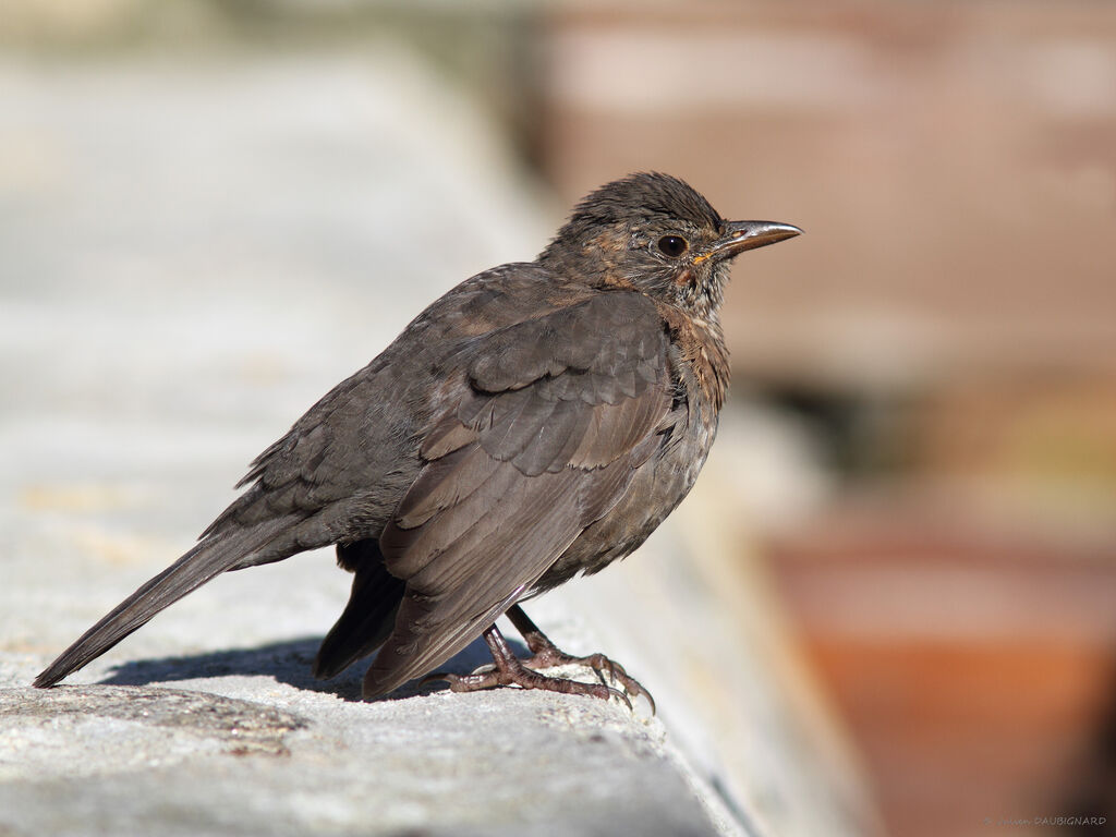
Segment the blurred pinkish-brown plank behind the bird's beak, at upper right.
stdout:
<path fill-rule="evenodd" d="M 562 195 L 658 169 L 807 232 L 739 260 L 737 369 L 1116 367 L 1113 4 L 559 8 L 540 136 Z"/>

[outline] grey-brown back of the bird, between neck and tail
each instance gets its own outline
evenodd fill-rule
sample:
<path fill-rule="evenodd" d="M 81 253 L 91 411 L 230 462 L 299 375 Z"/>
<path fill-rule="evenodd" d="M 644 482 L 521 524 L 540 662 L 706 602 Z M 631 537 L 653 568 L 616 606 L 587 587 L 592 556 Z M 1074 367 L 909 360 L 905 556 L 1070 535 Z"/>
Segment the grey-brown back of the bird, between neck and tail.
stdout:
<path fill-rule="evenodd" d="M 302 548 L 379 535 L 421 466 L 419 441 L 437 406 L 432 368 L 477 335 L 559 308 L 539 292 L 551 281 L 536 264 L 504 264 L 435 300 L 256 458 L 238 484 L 248 490 L 203 537 L 281 514 L 315 518 Z"/>

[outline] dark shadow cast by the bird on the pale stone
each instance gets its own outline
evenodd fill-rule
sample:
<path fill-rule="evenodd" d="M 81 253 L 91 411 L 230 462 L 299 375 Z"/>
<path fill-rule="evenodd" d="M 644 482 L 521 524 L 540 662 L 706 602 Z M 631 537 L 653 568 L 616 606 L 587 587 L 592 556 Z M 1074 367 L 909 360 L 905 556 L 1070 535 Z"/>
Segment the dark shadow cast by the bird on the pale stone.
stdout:
<path fill-rule="evenodd" d="M 527 655 L 527 647 L 510 641 L 519 655 Z M 329 692 L 346 701 L 360 701 L 360 680 L 372 657 L 357 661 L 333 680 L 317 680 L 310 673 L 314 657 L 318 653 L 321 637 L 302 637 L 287 642 L 271 643 L 256 648 L 214 651 L 189 656 L 155 657 L 136 660 L 117 666 L 113 674 L 100 683 L 104 685 L 142 686 L 151 683 L 173 683 L 203 677 L 229 675 L 273 677 L 296 689 L 311 692 Z M 491 664 L 492 655 L 481 638 L 475 639 L 440 671 L 468 674 L 483 665 Z M 400 700 L 420 694 L 431 694 L 448 689 L 440 681 L 420 683 L 412 681 L 377 701 Z"/>

